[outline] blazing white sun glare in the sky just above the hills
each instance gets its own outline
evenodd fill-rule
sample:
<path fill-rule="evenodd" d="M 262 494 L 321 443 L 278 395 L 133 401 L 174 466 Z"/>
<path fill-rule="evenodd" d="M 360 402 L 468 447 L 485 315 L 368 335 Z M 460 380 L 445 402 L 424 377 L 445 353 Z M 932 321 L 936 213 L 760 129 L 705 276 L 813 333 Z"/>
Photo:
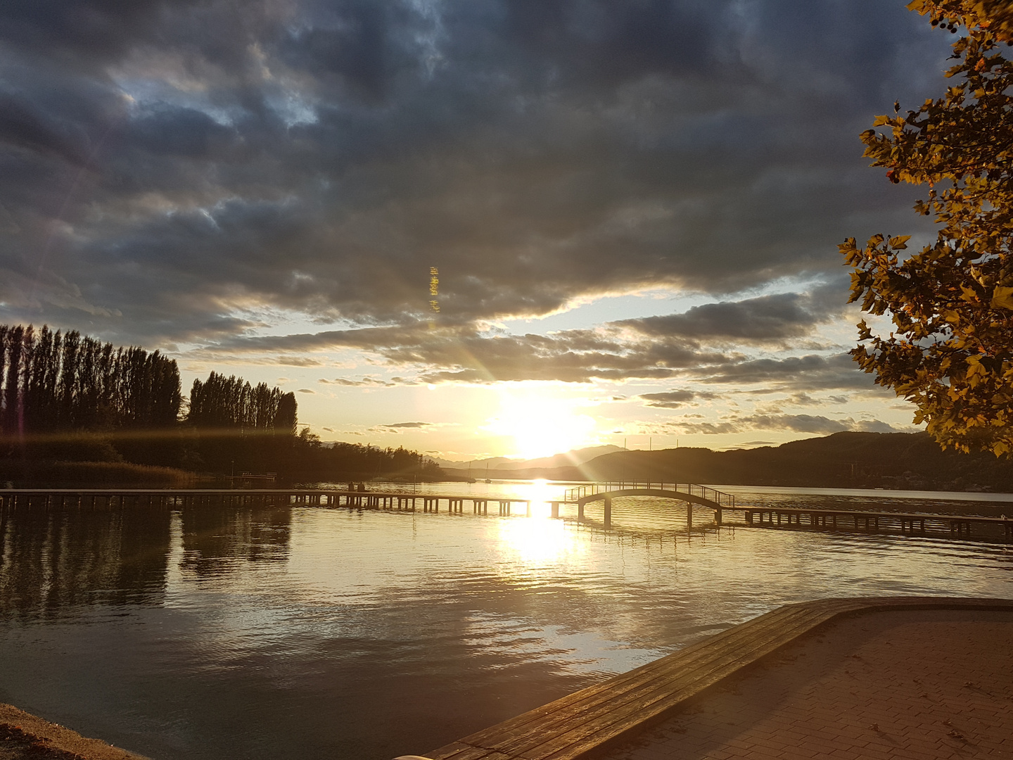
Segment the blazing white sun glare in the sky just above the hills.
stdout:
<path fill-rule="evenodd" d="M 589 445 L 593 436 L 595 421 L 579 413 L 580 403 L 539 389 L 501 391 L 499 414 L 485 429 L 513 439 L 510 456 L 534 459 L 559 454 Z"/>

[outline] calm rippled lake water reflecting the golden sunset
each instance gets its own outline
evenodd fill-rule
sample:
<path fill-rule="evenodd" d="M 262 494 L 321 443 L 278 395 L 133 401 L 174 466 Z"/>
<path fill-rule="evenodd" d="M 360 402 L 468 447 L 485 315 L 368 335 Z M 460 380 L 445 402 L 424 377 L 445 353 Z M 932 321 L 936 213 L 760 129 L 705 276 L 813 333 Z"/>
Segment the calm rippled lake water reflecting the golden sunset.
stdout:
<path fill-rule="evenodd" d="M 685 509 L 647 500 L 617 501 L 617 529 L 606 533 L 546 517 L 539 500 L 563 487 L 428 488 L 532 499 L 530 519 L 316 508 L 3 514 L 0 701 L 158 760 L 385 760 L 781 604 L 1013 597 L 1005 544 L 688 535 Z M 1013 509 L 1010 497 L 981 495 L 727 489 L 753 504 Z"/>

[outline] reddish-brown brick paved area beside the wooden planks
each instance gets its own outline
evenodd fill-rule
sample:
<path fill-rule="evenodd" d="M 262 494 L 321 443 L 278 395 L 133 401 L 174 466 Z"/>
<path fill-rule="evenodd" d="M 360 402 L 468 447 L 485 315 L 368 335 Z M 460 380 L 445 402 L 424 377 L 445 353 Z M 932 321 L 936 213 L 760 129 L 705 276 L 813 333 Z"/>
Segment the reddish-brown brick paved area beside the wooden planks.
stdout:
<path fill-rule="evenodd" d="M 833 624 L 608 760 L 1013 760 L 1013 614 Z"/>

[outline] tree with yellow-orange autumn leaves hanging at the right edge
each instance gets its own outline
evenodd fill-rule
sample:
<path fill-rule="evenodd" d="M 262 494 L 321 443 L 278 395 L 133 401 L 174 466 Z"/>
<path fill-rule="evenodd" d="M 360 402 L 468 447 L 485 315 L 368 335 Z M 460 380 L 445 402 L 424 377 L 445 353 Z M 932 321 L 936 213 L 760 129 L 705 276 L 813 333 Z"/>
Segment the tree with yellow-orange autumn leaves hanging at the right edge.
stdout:
<path fill-rule="evenodd" d="M 915 210 L 942 225 L 936 241 L 904 253 L 909 236 L 840 245 L 853 268 L 850 301 L 888 315 L 863 319 L 851 354 L 876 383 L 917 407 L 915 422 L 943 448 L 1013 452 L 1013 8 L 1000 0 L 915 0 L 953 44 L 956 80 L 918 110 L 877 117 L 862 134 L 873 166 L 892 182 L 927 184 Z"/>

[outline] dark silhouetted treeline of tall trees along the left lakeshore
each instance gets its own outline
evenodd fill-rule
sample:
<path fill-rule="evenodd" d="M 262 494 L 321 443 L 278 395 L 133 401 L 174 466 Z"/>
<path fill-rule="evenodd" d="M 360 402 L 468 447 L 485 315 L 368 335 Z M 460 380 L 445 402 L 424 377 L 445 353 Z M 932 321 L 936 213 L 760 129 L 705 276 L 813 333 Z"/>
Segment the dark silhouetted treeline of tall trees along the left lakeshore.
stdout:
<path fill-rule="evenodd" d="M 440 474 L 415 451 L 297 435 L 295 394 L 266 383 L 212 372 L 186 400 L 175 361 L 157 351 L 0 325 L 0 480 L 66 470 L 45 462 L 272 472 L 283 481 Z"/>

